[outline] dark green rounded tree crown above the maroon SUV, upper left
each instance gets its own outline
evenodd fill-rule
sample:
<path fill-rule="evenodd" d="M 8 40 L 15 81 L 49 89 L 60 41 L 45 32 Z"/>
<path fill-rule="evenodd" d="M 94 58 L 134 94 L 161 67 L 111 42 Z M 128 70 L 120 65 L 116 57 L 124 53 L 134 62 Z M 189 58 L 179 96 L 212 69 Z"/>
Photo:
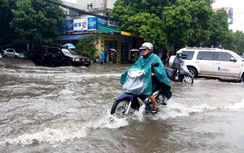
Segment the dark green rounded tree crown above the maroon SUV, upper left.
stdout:
<path fill-rule="evenodd" d="M 49 43 L 61 38 L 59 28 L 65 22 L 65 14 L 59 6 L 43 0 L 17 0 L 16 4 L 10 27 L 17 33 L 18 43 Z"/>

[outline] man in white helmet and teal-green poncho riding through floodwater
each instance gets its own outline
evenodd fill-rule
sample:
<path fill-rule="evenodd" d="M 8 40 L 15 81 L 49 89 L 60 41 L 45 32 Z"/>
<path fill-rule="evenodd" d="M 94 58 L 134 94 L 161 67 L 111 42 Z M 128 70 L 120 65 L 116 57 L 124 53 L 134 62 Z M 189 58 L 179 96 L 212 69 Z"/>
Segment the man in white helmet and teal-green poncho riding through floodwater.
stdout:
<path fill-rule="evenodd" d="M 120 83 L 124 84 L 126 81 L 127 74 L 130 70 L 133 69 L 144 69 L 145 74 L 146 74 L 146 88 L 145 90 L 141 93 L 143 95 L 147 95 L 148 98 L 152 101 L 153 103 L 153 110 L 152 114 L 155 114 L 159 111 L 157 101 L 154 97 L 153 93 L 153 85 L 160 86 L 162 88 L 164 96 L 169 99 L 172 95 L 171 92 L 171 86 L 168 80 L 168 77 L 166 75 L 165 67 L 161 59 L 158 57 L 158 55 L 153 53 L 153 45 L 150 42 L 145 42 L 141 45 L 139 48 L 140 51 L 142 52 L 142 56 L 131 66 L 130 69 L 124 71 L 121 75 L 120 78 Z M 151 65 L 153 63 L 159 63 L 159 66 L 154 67 L 153 70 L 151 69 Z M 153 84 L 154 79 L 157 79 L 158 83 Z"/>

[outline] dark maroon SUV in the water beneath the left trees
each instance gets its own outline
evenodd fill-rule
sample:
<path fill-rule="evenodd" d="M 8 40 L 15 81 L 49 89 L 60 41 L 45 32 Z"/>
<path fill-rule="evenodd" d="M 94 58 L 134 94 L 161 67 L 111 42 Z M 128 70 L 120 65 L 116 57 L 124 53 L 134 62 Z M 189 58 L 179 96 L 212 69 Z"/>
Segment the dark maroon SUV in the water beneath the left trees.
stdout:
<path fill-rule="evenodd" d="M 74 51 L 60 46 L 45 45 L 39 50 L 32 51 L 31 60 L 36 66 L 90 66 L 88 57 L 77 55 Z"/>

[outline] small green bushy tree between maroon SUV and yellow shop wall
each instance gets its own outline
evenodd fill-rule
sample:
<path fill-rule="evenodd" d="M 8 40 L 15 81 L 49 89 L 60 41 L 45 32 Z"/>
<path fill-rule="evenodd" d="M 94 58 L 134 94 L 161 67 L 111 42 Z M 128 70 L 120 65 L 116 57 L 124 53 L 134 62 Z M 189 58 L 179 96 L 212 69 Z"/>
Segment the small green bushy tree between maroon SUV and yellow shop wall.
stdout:
<path fill-rule="evenodd" d="M 94 42 L 98 41 L 99 38 L 99 34 L 92 34 L 80 38 L 78 43 L 76 44 L 75 51 L 82 56 L 87 56 L 90 59 L 95 59 L 95 52 L 97 51 L 97 49 L 93 44 Z"/>

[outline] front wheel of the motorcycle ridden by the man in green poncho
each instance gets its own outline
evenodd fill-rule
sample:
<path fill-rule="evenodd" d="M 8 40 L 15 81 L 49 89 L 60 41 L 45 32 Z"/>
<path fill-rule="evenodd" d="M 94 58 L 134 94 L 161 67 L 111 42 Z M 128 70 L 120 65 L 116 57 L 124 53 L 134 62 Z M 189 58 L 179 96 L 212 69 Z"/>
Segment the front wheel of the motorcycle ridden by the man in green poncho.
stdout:
<path fill-rule="evenodd" d="M 134 110 L 129 106 L 129 104 L 130 104 L 129 100 L 116 101 L 111 108 L 110 114 L 115 115 L 118 118 L 124 118 L 126 116 L 133 114 Z M 129 112 L 128 114 L 126 114 L 126 111 L 128 109 Z"/>

